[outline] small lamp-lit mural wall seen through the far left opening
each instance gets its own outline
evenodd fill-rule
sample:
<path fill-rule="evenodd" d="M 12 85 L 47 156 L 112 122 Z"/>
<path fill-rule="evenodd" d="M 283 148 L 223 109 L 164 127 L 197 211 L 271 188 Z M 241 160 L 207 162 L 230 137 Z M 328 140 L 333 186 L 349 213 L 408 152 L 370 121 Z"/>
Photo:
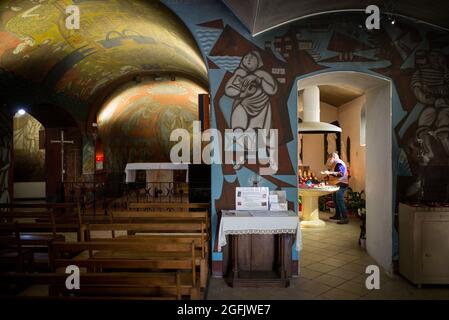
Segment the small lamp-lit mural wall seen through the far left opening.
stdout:
<path fill-rule="evenodd" d="M 14 117 L 14 181 L 45 181 L 45 150 L 39 149 L 42 124 L 25 113 Z"/>

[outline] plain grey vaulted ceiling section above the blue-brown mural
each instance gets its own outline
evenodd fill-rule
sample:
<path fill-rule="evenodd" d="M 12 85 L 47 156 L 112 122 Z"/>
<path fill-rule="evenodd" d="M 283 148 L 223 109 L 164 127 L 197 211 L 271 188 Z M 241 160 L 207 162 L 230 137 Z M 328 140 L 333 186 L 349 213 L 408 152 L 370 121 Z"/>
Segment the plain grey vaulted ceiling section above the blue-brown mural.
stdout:
<path fill-rule="evenodd" d="M 223 2 L 253 35 L 320 13 L 364 11 L 372 4 L 378 5 L 382 13 L 404 16 L 449 29 L 447 0 L 223 0 Z"/>

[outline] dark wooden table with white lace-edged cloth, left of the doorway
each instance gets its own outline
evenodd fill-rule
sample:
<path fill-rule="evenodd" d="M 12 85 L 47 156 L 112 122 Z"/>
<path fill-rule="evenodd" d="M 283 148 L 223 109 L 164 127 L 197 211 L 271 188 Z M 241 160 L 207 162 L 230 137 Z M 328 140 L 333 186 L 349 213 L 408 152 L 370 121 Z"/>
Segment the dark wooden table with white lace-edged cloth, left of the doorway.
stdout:
<path fill-rule="evenodd" d="M 222 210 L 217 241 L 218 251 L 230 242 L 227 279 L 231 286 L 287 287 L 292 247 L 301 250 L 298 215 L 293 211 Z"/>

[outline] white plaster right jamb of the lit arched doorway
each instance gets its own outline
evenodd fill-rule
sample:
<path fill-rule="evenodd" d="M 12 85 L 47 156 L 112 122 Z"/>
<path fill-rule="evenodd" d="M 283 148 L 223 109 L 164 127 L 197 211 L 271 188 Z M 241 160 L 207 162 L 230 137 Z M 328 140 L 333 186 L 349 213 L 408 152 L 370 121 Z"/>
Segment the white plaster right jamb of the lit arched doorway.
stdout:
<path fill-rule="evenodd" d="M 366 91 L 366 248 L 392 272 L 391 85 Z"/>

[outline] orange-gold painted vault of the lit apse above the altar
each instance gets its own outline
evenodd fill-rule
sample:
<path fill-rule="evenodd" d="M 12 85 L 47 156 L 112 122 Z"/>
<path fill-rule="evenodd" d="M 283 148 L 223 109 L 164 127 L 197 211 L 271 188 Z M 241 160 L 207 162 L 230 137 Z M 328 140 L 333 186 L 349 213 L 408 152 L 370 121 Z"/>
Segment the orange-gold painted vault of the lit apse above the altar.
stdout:
<path fill-rule="evenodd" d="M 145 80 L 117 89 L 98 114 L 99 136 L 107 169 L 123 172 L 131 162 L 170 162 L 170 133 L 192 132 L 198 120 L 198 94 L 206 91 L 194 82 Z"/>

